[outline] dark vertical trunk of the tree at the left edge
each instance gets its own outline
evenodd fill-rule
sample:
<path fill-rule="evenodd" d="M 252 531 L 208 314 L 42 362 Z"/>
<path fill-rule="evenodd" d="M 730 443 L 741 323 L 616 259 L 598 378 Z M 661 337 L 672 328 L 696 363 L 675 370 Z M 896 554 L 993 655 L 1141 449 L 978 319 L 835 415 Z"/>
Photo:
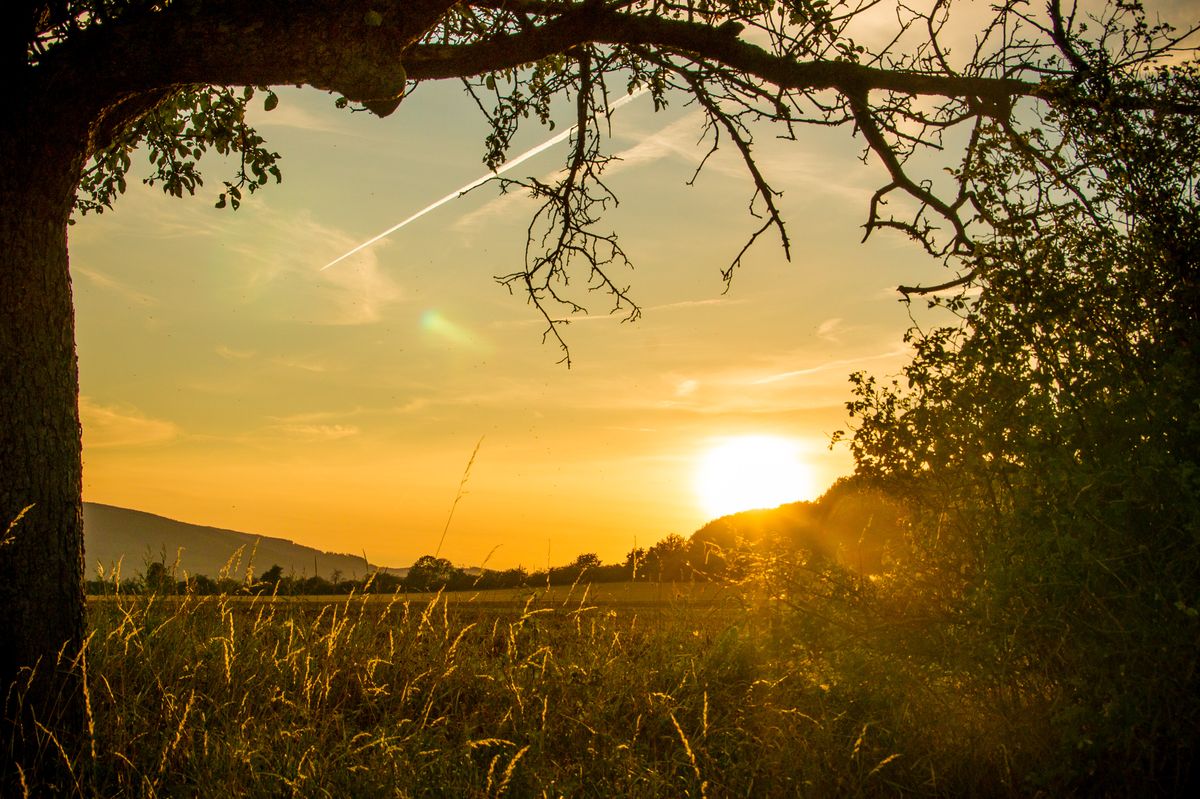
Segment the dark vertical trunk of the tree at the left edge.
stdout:
<path fill-rule="evenodd" d="M 46 731 L 73 753 L 83 729 L 82 441 L 66 227 L 86 131 L 54 136 L 20 116 L 0 122 L 4 795 L 14 780 L 35 794 L 55 782 L 67 789 Z"/>

